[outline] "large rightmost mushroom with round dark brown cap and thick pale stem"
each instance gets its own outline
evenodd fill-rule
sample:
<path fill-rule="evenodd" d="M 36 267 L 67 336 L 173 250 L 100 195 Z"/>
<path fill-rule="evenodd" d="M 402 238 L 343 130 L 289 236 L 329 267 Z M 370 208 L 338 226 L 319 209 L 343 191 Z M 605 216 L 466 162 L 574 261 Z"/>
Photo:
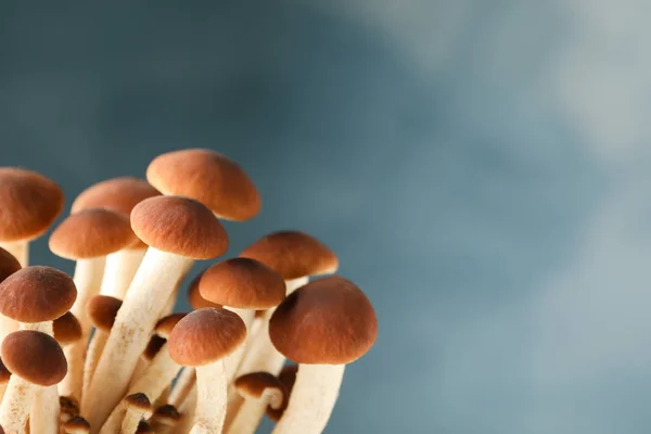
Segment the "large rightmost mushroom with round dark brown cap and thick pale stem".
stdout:
<path fill-rule="evenodd" d="M 269 336 L 280 353 L 299 365 L 288 408 L 273 433 L 321 433 L 345 366 L 363 356 L 376 335 L 373 306 L 346 279 L 315 280 L 285 298 L 269 321 Z"/>

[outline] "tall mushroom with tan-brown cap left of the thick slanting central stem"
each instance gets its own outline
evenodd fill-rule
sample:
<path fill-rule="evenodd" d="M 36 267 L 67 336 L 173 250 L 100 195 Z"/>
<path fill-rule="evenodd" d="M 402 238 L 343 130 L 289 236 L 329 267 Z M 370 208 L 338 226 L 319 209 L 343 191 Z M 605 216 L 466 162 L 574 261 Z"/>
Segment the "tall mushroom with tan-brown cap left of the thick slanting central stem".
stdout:
<path fill-rule="evenodd" d="M 91 328 L 86 305 L 100 291 L 106 256 L 136 241 L 128 217 L 104 208 L 87 208 L 71 214 L 50 235 L 52 253 L 77 261 L 73 279 L 78 296 L 71 311 L 81 323 L 84 332 L 81 341 L 64 348 L 68 373 L 59 385 L 61 395 L 81 399 L 86 343 Z"/>

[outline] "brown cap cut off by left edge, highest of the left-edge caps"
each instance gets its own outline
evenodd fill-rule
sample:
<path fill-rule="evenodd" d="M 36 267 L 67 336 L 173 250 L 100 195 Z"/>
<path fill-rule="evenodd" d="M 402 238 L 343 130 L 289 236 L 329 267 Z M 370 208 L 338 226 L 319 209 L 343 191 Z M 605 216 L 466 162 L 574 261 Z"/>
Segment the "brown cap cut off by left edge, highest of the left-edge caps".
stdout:
<path fill-rule="evenodd" d="M 63 209 L 63 192 L 35 171 L 0 167 L 0 240 L 33 240 Z"/>

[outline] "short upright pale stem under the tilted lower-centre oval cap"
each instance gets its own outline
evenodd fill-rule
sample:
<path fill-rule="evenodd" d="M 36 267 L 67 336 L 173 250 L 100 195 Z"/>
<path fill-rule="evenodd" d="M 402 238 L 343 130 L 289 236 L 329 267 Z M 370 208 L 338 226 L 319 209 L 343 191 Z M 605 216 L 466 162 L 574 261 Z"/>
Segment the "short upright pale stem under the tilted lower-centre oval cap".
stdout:
<path fill-rule="evenodd" d="M 196 414 L 192 434 L 219 434 L 224 426 L 227 401 L 224 359 L 196 367 Z"/>

